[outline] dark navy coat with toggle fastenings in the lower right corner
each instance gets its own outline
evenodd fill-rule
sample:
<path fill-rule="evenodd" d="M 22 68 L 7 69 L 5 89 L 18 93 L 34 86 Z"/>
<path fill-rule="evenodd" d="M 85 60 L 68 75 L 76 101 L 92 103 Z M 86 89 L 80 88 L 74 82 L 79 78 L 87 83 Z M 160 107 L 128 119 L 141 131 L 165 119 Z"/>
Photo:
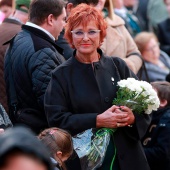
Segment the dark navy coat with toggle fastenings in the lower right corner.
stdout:
<path fill-rule="evenodd" d="M 170 169 L 170 107 L 153 112 L 143 146 L 151 170 Z"/>

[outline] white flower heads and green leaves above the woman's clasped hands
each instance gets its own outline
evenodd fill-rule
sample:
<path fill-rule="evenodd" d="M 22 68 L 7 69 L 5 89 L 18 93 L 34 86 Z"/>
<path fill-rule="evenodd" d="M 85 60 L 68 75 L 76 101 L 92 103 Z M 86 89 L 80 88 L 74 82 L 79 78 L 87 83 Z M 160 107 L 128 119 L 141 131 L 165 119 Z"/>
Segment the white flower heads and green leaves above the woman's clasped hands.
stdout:
<path fill-rule="evenodd" d="M 113 100 L 114 105 L 127 106 L 138 114 L 150 114 L 158 109 L 159 98 L 148 82 L 128 78 L 119 81 L 118 86 L 117 98 Z"/>

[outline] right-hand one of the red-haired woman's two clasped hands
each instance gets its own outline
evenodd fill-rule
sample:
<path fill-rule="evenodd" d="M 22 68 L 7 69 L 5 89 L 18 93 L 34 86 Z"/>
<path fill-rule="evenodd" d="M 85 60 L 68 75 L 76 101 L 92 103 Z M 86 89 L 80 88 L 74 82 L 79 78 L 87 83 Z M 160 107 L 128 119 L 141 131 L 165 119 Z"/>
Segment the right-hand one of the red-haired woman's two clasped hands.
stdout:
<path fill-rule="evenodd" d="M 117 126 L 118 127 L 123 127 L 127 125 L 132 125 L 135 122 L 135 116 L 132 112 L 132 110 L 126 106 L 120 106 L 120 109 L 116 109 L 115 113 L 119 114 L 119 113 L 127 113 L 128 115 L 128 119 L 126 119 L 126 122 L 124 121 L 124 119 L 120 120 L 119 122 L 117 122 Z"/>

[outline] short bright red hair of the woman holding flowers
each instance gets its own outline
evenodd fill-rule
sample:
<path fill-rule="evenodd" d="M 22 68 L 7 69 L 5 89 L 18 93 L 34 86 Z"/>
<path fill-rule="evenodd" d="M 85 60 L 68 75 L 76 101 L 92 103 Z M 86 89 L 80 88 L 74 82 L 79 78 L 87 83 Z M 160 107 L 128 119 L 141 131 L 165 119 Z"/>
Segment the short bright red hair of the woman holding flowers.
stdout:
<path fill-rule="evenodd" d="M 106 36 L 107 23 L 105 22 L 102 13 L 96 8 L 87 4 L 77 5 L 72 9 L 65 26 L 65 38 L 72 46 L 72 33 L 73 28 L 82 24 L 84 27 L 88 25 L 89 21 L 93 21 L 100 31 L 100 39 L 103 42 Z M 73 47 L 73 46 L 72 46 Z"/>

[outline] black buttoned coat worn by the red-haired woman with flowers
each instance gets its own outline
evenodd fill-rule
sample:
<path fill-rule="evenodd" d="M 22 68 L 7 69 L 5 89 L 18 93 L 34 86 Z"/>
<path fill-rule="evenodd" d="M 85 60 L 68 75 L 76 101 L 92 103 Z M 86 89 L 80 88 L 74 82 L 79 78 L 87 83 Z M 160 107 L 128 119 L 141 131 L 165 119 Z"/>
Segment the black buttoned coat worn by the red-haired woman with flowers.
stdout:
<path fill-rule="evenodd" d="M 122 59 L 105 57 L 99 52 L 99 62 L 84 64 L 73 56 L 53 72 L 45 94 L 45 111 L 51 127 L 66 129 L 72 135 L 95 128 L 96 116 L 112 106 L 117 81 L 136 77 Z M 120 128 L 114 136 L 121 170 L 149 170 L 140 138 L 150 117 L 135 117 L 132 128 Z"/>

